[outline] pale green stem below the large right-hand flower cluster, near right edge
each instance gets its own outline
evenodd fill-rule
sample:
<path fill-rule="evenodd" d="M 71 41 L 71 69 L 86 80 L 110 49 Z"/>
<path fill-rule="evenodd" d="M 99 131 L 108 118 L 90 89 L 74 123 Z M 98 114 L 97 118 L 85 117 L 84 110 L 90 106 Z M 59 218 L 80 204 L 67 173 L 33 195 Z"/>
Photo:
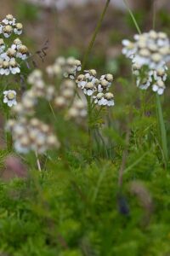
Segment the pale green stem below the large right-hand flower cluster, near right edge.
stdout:
<path fill-rule="evenodd" d="M 163 160 L 164 160 L 165 167 L 167 168 L 167 161 L 168 161 L 167 132 L 165 127 L 165 122 L 163 119 L 160 96 L 158 96 L 157 94 L 156 94 L 156 108 L 157 108 L 158 125 L 161 133 L 161 148 L 163 152 Z"/>

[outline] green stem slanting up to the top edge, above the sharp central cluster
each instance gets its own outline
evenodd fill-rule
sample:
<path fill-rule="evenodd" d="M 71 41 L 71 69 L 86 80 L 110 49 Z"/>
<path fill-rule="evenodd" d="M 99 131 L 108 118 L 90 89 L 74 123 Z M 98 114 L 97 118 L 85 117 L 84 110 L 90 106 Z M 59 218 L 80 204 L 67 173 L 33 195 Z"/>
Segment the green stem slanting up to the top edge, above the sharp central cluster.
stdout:
<path fill-rule="evenodd" d="M 102 22 L 103 22 L 104 18 L 105 18 L 105 14 L 106 14 L 106 11 L 107 11 L 107 8 L 108 8 L 110 2 L 111 2 L 111 0 L 107 0 L 107 1 L 106 1 L 106 3 L 105 3 L 105 8 L 104 8 L 102 14 L 101 14 L 100 17 L 99 17 L 98 24 L 97 24 L 97 26 L 96 26 L 96 28 L 95 28 L 95 30 L 94 30 L 94 34 L 93 34 L 93 36 L 92 36 L 92 39 L 91 39 L 91 41 L 90 41 L 90 43 L 89 43 L 89 45 L 88 45 L 88 49 L 87 49 L 87 51 L 86 51 L 86 53 L 85 53 L 85 55 L 84 55 L 83 61 L 82 61 L 82 70 L 84 70 L 84 67 L 85 67 L 85 65 L 86 65 L 86 62 L 87 62 L 87 60 L 88 60 L 88 55 L 90 54 L 90 51 L 91 51 L 91 49 L 92 49 L 93 46 L 94 46 L 95 39 L 96 39 L 96 37 L 97 37 L 97 35 L 98 35 L 98 33 L 99 33 L 99 29 L 100 29 L 100 27 L 101 27 L 101 25 L 102 25 Z"/>

